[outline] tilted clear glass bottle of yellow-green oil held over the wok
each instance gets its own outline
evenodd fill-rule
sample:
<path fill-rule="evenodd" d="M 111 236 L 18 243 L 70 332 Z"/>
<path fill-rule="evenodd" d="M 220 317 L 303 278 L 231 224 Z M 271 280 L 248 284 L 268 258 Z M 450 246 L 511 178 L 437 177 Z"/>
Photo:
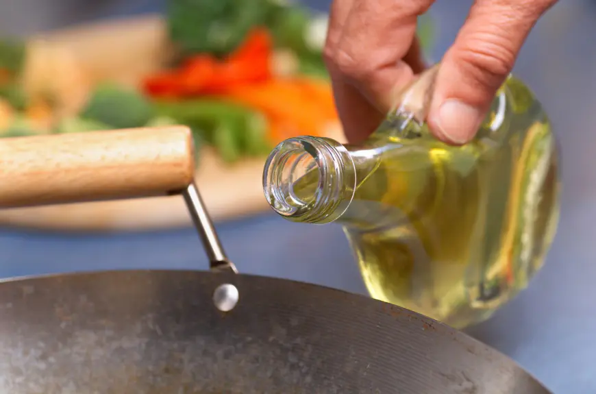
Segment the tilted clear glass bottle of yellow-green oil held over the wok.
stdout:
<path fill-rule="evenodd" d="M 423 119 L 437 66 L 361 146 L 301 136 L 266 161 L 267 201 L 290 221 L 343 225 L 376 299 L 463 328 L 541 268 L 558 221 L 558 149 L 540 103 L 509 77 L 473 142 Z"/>

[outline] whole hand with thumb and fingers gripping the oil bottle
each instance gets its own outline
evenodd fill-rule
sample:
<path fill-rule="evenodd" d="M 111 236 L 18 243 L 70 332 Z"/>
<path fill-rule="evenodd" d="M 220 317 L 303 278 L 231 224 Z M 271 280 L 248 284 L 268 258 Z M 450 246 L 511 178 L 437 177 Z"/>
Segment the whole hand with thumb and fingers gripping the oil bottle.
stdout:
<path fill-rule="evenodd" d="M 325 42 L 336 106 L 345 134 L 360 143 L 390 109 L 395 87 L 425 68 L 417 17 L 434 0 L 334 0 Z M 434 136 L 471 140 L 536 21 L 556 0 L 475 0 L 445 53 L 427 123 Z"/>

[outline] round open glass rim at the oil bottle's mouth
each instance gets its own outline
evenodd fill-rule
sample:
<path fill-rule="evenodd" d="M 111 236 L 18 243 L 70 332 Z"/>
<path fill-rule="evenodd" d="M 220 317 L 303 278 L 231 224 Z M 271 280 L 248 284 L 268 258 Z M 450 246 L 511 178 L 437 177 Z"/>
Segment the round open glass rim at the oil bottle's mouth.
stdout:
<path fill-rule="evenodd" d="M 305 138 L 277 145 L 265 163 L 263 188 L 269 205 L 284 217 L 306 214 L 323 198 L 325 158 Z"/>

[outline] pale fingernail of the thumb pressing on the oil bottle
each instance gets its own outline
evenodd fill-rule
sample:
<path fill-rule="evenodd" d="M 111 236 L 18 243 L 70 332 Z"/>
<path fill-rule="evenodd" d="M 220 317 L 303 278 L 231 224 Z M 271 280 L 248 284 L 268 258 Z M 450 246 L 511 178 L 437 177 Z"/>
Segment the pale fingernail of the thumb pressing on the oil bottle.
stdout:
<path fill-rule="evenodd" d="M 435 123 L 441 134 L 451 142 L 464 144 L 476 134 L 482 112 L 459 100 L 447 100 L 440 106 Z"/>

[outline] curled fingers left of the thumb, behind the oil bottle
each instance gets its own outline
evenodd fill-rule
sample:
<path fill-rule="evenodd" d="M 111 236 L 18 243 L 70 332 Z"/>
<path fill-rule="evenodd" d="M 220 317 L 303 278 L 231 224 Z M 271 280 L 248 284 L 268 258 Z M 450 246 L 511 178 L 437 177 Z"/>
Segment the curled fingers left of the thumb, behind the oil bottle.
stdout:
<path fill-rule="evenodd" d="M 406 84 L 414 72 L 423 69 L 414 35 L 417 16 L 432 2 L 334 1 L 332 13 L 340 16 L 330 25 L 325 60 L 338 114 L 351 143 L 362 142 L 378 127 L 393 104 L 394 86 Z M 345 3 L 351 5 L 350 10 Z"/>

